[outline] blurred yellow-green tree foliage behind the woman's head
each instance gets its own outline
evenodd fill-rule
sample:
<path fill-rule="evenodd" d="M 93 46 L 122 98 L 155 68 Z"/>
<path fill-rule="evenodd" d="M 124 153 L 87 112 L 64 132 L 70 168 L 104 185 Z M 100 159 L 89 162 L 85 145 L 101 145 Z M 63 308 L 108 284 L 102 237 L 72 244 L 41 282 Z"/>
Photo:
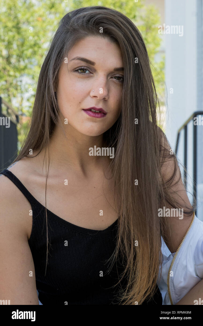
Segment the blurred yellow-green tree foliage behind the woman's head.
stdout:
<path fill-rule="evenodd" d="M 155 62 L 161 43 L 160 18 L 155 7 L 145 6 L 141 0 L 0 0 L 0 96 L 20 115 L 31 116 L 40 68 L 60 19 L 70 10 L 88 6 L 116 9 L 136 24 L 147 46 L 161 104 L 164 103 L 164 57 Z M 18 124 L 19 149 L 28 124 L 22 121 Z"/>

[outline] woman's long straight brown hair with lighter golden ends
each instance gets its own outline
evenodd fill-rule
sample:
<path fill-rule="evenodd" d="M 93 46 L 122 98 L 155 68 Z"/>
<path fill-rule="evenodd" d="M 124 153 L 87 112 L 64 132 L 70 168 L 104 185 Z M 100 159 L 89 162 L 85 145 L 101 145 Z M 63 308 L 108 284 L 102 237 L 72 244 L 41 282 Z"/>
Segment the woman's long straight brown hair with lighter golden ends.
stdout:
<path fill-rule="evenodd" d="M 123 55 L 121 114 L 104 133 L 104 141 L 115 151 L 109 167 L 120 205 L 117 245 L 110 259 L 117 259 L 120 250 L 125 266 L 122 277 L 128 278 L 126 289 L 119 293 L 120 304 L 142 304 L 154 295 L 162 257 L 161 235 L 165 234 L 165 223 L 158 216 L 158 209 L 168 205 L 180 207 L 169 191 L 178 164 L 175 154 L 166 149 L 166 136 L 157 126 L 159 101 L 144 40 L 134 23 L 121 12 L 101 6 L 83 7 L 61 19 L 39 74 L 29 132 L 14 162 L 30 157 L 30 149 L 37 150 L 37 155 L 42 149 L 49 149 L 52 132 L 59 125 L 60 109 L 55 93 L 59 68 L 75 42 L 87 36 L 106 37 L 119 44 Z M 161 177 L 160 182 L 161 167 L 167 157 L 176 163 L 174 172 L 169 180 Z M 46 190 L 48 173 L 46 157 Z M 186 208 L 184 214 L 191 215 L 192 207 Z"/>

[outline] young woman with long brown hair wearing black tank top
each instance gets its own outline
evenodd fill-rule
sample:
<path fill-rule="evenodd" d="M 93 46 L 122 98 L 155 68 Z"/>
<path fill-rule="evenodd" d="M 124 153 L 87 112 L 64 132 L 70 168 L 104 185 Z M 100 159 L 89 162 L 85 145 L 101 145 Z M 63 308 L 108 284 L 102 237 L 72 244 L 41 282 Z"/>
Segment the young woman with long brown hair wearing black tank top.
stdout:
<path fill-rule="evenodd" d="M 143 38 L 127 17 L 96 6 L 62 18 L 28 135 L 1 172 L 0 299 L 162 304 L 161 236 L 176 252 L 194 207 L 157 104 Z M 184 208 L 183 218 L 160 217 L 164 206 Z"/>

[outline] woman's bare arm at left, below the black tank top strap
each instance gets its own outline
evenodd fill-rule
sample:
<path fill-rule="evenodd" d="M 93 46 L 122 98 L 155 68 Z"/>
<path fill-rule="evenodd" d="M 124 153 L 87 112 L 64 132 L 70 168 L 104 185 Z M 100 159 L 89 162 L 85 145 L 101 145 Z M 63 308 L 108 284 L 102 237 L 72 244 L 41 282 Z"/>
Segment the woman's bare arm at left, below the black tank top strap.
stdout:
<path fill-rule="evenodd" d="M 23 195 L 19 197 L 19 191 L 6 176 L 0 176 L 0 300 L 12 305 L 38 305 L 35 267 L 25 227 L 30 216 L 21 207 Z"/>

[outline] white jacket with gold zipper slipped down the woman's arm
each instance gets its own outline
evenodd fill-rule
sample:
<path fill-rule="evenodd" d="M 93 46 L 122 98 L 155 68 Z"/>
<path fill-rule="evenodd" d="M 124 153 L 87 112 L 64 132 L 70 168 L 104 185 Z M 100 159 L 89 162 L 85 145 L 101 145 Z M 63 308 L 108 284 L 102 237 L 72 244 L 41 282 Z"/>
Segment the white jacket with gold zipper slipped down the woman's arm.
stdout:
<path fill-rule="evenodd" d="M 203 278 L 203 222 L 194 214 L 176 253 L 170 252 L 163 238 L 161 250 L 164 260 L 160 283 L 159 267 L 157 285 L 162 304 L 177 304 Z"/>

